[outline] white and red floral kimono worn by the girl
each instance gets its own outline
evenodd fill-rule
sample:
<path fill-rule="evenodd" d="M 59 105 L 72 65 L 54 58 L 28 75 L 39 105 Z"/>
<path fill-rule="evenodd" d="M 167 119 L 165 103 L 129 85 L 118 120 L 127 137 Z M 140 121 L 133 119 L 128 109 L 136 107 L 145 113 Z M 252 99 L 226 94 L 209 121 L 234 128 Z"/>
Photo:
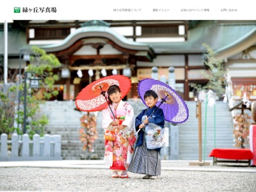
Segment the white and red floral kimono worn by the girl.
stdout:
<path fill-rule="evenodd" d="M 119 104 L 110 105 L 119 125 L 127 125 L 124 129 L 117 129 L 118 125 L 110 125 L 113 122 L 113 114 L 108 108 L 102 113 L 102 127 L 104 131 L 115 131 L 115 141 L 105 141 L 104 163 L 110 166 L 111 170 L 127 170 L 134 151 L 133 145 L 136 140 L 134 136 L 135 118 L 133 108 L 127 102 L 120 100 Z"/>

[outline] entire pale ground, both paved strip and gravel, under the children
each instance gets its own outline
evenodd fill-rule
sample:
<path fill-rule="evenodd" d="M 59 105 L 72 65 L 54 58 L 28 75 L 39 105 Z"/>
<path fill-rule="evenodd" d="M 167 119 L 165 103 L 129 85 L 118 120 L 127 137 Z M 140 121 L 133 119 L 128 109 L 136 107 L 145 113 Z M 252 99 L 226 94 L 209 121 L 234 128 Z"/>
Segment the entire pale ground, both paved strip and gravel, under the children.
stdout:
<path fill-rule="evenodd" d="M 135 173 L 112 179 L 102 160 L 2 161 L 0 191 L 256 191 L 253 166 L 191 162 L 162 160 L 159 178 L 148 180 Z"/>

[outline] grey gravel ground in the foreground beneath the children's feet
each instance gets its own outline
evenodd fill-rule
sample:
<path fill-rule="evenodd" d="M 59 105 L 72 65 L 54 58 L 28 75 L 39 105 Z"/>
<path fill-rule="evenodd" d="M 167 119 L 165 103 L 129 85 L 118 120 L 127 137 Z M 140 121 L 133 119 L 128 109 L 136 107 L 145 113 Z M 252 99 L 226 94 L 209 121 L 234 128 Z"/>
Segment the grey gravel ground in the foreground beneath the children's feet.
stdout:
<path fill-rule="evenodd" d="M 162 170 L 156 180 L 129 176 L 112 179 L 106 169 L 0 168 L 0 191 L 256 191 L 256 173 Z"/>

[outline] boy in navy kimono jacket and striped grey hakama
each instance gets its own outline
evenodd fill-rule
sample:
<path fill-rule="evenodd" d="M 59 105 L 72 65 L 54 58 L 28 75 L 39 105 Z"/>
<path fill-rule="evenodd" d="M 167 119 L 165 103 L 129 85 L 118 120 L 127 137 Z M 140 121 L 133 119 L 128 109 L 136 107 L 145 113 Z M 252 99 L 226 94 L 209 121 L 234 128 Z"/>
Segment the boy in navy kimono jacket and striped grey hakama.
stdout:
<path fill-rule="evenodd" d="M 161 175 L 161 157 L 160 150 L 148 150 L 145 141 L 145 126 L 148 123 L 156 124 L 164 128 L 163 109 L 157 108 L 157 93 L 153 90 L 145 92 L 144 100 L 147 109 L 143 109 L 140 115 L 136 117 L 135 128 L 138 132 L 138 141 L 128 171 L 133 173 L 145 174 L 143 179 L 157 179 L 157 175 Z"/>

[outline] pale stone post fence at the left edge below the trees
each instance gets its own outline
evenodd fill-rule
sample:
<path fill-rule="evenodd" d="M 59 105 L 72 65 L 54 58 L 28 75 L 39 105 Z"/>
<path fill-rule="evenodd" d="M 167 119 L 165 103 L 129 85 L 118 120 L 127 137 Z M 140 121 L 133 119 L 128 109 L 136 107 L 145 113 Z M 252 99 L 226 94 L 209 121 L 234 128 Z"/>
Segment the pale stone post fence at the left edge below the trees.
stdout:
<path fill-rule="evenodd" d="M 29 140 L 28 134 L 19 136 L 12 134 L 8 140 L 7 134 L 1 134 L 0 161 L 46 161 L 62 160 L 61 136 L 45 134 L 40 138 L 38 134 Z"/>

